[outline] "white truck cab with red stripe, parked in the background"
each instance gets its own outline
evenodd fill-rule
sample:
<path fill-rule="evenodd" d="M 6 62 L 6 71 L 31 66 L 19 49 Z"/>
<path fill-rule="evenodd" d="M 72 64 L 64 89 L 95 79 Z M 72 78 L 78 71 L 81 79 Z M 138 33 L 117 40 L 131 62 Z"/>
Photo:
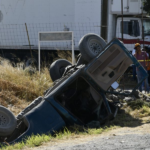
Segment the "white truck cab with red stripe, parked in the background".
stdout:
<path fill-rule="evenodd" d="M 132 51 L 135 43 L 150 45 L 150 18 L 143 18 L 144 40 L 142 36 L 142 19 L 138 17 L 123 18 L 123 42 Z M 117 18 L 116 37 L 122 38 L 122 18 Z"/>

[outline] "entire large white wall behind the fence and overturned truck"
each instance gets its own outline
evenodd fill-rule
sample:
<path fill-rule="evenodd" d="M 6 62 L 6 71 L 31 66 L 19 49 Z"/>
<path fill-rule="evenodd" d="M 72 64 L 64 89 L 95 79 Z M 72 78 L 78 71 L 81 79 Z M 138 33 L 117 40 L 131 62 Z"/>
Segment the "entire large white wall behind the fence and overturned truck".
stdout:
<path fill-rule="evenodd" d="M 76 48 L 84 34 L 100 35 L 101 0 L 0 0 L 0 11 L 0 46 L 28 45 L 25 23 L 33 47 L 39 31 L 63 31 L 64 26 L 74 31 Z M 54 46 L 71 47 L 68 42 Z"/>

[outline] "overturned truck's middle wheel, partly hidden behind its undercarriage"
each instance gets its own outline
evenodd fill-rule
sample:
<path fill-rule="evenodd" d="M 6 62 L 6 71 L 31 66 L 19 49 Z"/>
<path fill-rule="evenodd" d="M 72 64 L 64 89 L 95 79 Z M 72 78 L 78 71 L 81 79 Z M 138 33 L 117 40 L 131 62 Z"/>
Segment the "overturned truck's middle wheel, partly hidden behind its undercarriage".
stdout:
<path fill-rule="evenodd" d="M 50 76 L 52 81 L 60 79 L 65 71 L 65 68 L 69 65 L 72 65 L 69 61 L 65 59 L 58 59 L 54 61 L 50 66 Z"/>

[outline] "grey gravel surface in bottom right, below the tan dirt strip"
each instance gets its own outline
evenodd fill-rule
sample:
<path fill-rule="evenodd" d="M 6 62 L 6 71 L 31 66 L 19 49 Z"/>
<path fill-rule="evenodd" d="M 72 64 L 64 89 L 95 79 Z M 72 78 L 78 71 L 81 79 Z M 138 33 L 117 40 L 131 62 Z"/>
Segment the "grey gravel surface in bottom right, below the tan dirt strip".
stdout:
<path fill-rule="evenodd" d="M 52 146 L 43 150 L 150 150 L 150 134 L 126 134 L 112 137 L 97 137 L 82 144 Z"/>

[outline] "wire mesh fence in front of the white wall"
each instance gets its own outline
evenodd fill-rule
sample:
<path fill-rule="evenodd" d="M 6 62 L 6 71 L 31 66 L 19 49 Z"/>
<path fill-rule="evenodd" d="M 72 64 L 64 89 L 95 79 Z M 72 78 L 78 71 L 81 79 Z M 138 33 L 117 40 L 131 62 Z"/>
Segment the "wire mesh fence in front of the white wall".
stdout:
<path fill-rule="evenodd" d="M 78 49 L 81 37 L 87 33 L 100 35 L 99 23 L 40 23 L 27 24 L 30 45 L 32 49 L 38 49 L 38 33 L 50 31 L 73 31 L 74 46 Z M 25 24 L 1 24 L 0 25 L 0 48 L 1 49 L 29 49 Z M 71 50 L 71 42 L 42 42 L 44 50 Z"/>

